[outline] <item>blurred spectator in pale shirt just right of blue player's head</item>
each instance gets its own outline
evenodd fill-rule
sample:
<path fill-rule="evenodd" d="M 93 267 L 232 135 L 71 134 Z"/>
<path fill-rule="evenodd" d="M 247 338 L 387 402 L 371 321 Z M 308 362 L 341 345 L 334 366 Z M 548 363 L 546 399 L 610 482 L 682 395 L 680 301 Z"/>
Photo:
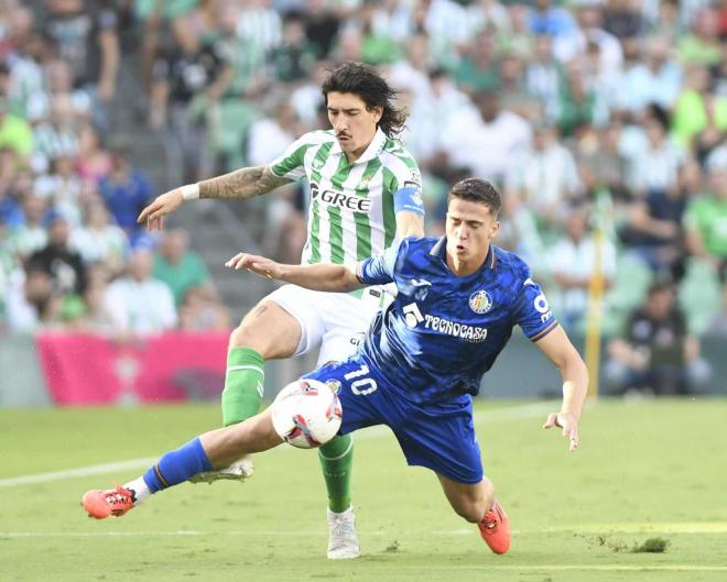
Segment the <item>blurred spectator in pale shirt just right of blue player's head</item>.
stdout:
<path fill-rule="evenodd" d="M 506 179 L 506 196 L 517 194 L 542 224 L 561 227 L 564 210 L 582 193 L 573 154 L 557 139 L 555 128 L 535 125 L 532 147 L 513 157 Z"/>

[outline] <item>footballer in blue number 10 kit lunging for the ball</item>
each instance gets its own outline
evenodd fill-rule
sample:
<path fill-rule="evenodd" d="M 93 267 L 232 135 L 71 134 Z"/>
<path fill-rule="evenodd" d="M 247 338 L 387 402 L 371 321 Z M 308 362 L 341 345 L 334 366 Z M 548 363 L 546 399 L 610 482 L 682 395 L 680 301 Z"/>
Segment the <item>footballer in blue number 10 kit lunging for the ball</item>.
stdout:
<path fill-rule="evenodd" d="M 563 404 L 543 427 L 561 427 L 574 451 L 588 373 L 528 265 L 491 244 L 499 209 L 495 187 L 469 178 L 449 191 L 446 235 L 441 239 L 404 239 L 357 265 L 280 265 L 239 253 L 228 266 L 325 292 L 395 284 L 395 300 L 377 316 L 358 352 L 306 377 L 338 391 L 340 435 L 389 426 L 408 463 L 433 470 L 453 509 L 478 525 L 493 552 L 504 553 L 510 547 L 509 519 L 482 472 L 471 397 L 520 326 L 561 371 Z M 267 450 L 281 440 L 269 408 L 165 454 L 123 487 L 88 492 L 84 507 L 105 517 L 121 498 L 128 510 L 196 472 L 225 466 L 240 453 Z"/>

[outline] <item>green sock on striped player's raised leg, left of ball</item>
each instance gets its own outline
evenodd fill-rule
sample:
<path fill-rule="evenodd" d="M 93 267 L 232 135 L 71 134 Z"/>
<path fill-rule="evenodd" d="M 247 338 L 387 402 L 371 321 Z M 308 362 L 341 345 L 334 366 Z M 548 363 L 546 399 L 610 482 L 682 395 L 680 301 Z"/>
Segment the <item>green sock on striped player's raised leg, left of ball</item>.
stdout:
<path fill-rule="evenodd" d="M 223 425 L 241 422 L 258 414 L 265 380 L 265 362 L 254 350 L 230 348 L 223 391 Z"/>

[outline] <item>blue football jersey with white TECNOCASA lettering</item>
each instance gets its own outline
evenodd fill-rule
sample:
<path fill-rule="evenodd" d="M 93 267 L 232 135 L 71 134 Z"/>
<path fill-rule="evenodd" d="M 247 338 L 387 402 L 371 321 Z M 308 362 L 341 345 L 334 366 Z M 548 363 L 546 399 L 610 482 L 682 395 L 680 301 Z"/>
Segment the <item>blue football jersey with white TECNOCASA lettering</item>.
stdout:
<path fill-rule="evenodd" d="M 557 326 L 517 255 L 490 245 L 479 271 L 457 277 L 445 249 L 444 237 L 408 238 L 358 265 L 361 282 L 399 292 L 360 350 L 416 403 L 476 395 L 516 325 L 533 341 Z"/>

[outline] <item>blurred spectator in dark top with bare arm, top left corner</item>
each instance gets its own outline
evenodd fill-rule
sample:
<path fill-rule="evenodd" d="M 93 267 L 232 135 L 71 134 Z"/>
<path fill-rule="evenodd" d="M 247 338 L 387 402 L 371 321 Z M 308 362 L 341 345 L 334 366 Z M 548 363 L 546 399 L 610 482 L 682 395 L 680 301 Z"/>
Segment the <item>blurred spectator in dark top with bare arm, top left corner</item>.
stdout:
<path fill-rule="evenodd" d="M 74 87 L 91 96 L 97 125 L 108 130 L 120 58 L 116 11 L 90 0 L 45 0 L 44 7 L 44 33 L 70 65 Z"/>

